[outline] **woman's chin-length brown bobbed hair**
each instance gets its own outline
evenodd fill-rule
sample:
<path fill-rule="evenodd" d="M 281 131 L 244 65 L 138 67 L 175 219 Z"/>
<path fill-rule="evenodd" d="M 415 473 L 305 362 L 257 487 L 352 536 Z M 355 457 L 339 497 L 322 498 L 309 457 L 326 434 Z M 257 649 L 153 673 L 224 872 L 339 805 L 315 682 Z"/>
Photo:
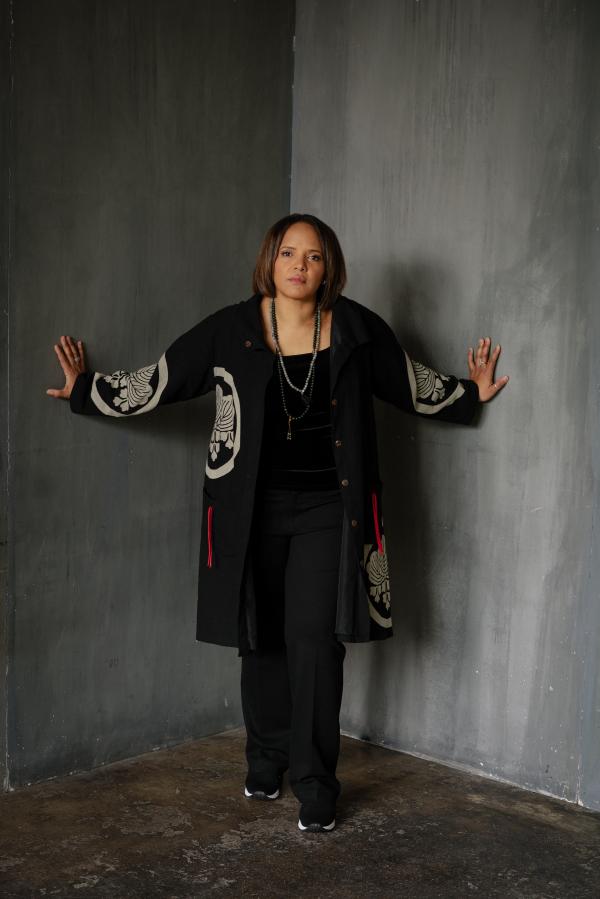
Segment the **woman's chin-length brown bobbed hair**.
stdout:
<path fill-rule="evenodd" d="M 273 267 L 285 232 L 290 225 L 295 225 L 296 222 L 306 222 L 308 225 L 312 225 L 319 237 L 325 263 L 325 283 L 321 284 L 317 290 L 317 302 L 320 303 L 322 309 L 330 309 L 346 284 L 344 254 L 333 228 L 330 228 L 315 215 L 308 213 L 293 212 L 271 225 L 258 252 L 252 275 L 252 290 L 263 296 L 275 296 Z"/>

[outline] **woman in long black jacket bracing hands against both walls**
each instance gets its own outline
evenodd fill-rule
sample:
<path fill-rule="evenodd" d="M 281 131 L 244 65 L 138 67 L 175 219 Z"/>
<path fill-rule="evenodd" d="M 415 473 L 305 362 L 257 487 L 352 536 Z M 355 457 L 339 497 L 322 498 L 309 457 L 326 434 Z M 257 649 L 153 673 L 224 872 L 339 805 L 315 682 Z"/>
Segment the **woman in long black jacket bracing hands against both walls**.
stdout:
<path fill-rule="evenodd" d="M 158 362 L 88 372 L 81 340 L 55 345 L 53 397 L 129 417 L 215 391 L 205 465 L 196 639 L 237 646 L 245 795 L 275 799 L 283 772 L 301 830 L 335 825 L 344 642 L 392 635 L 373 396 L 468 423 L 500 347 L 468 351 L 469 378 L 412 360 L 387 323 L 345 297 L 336 235 L 312 215 L 267 232 L 253 295 L 204 318 Z"/>

